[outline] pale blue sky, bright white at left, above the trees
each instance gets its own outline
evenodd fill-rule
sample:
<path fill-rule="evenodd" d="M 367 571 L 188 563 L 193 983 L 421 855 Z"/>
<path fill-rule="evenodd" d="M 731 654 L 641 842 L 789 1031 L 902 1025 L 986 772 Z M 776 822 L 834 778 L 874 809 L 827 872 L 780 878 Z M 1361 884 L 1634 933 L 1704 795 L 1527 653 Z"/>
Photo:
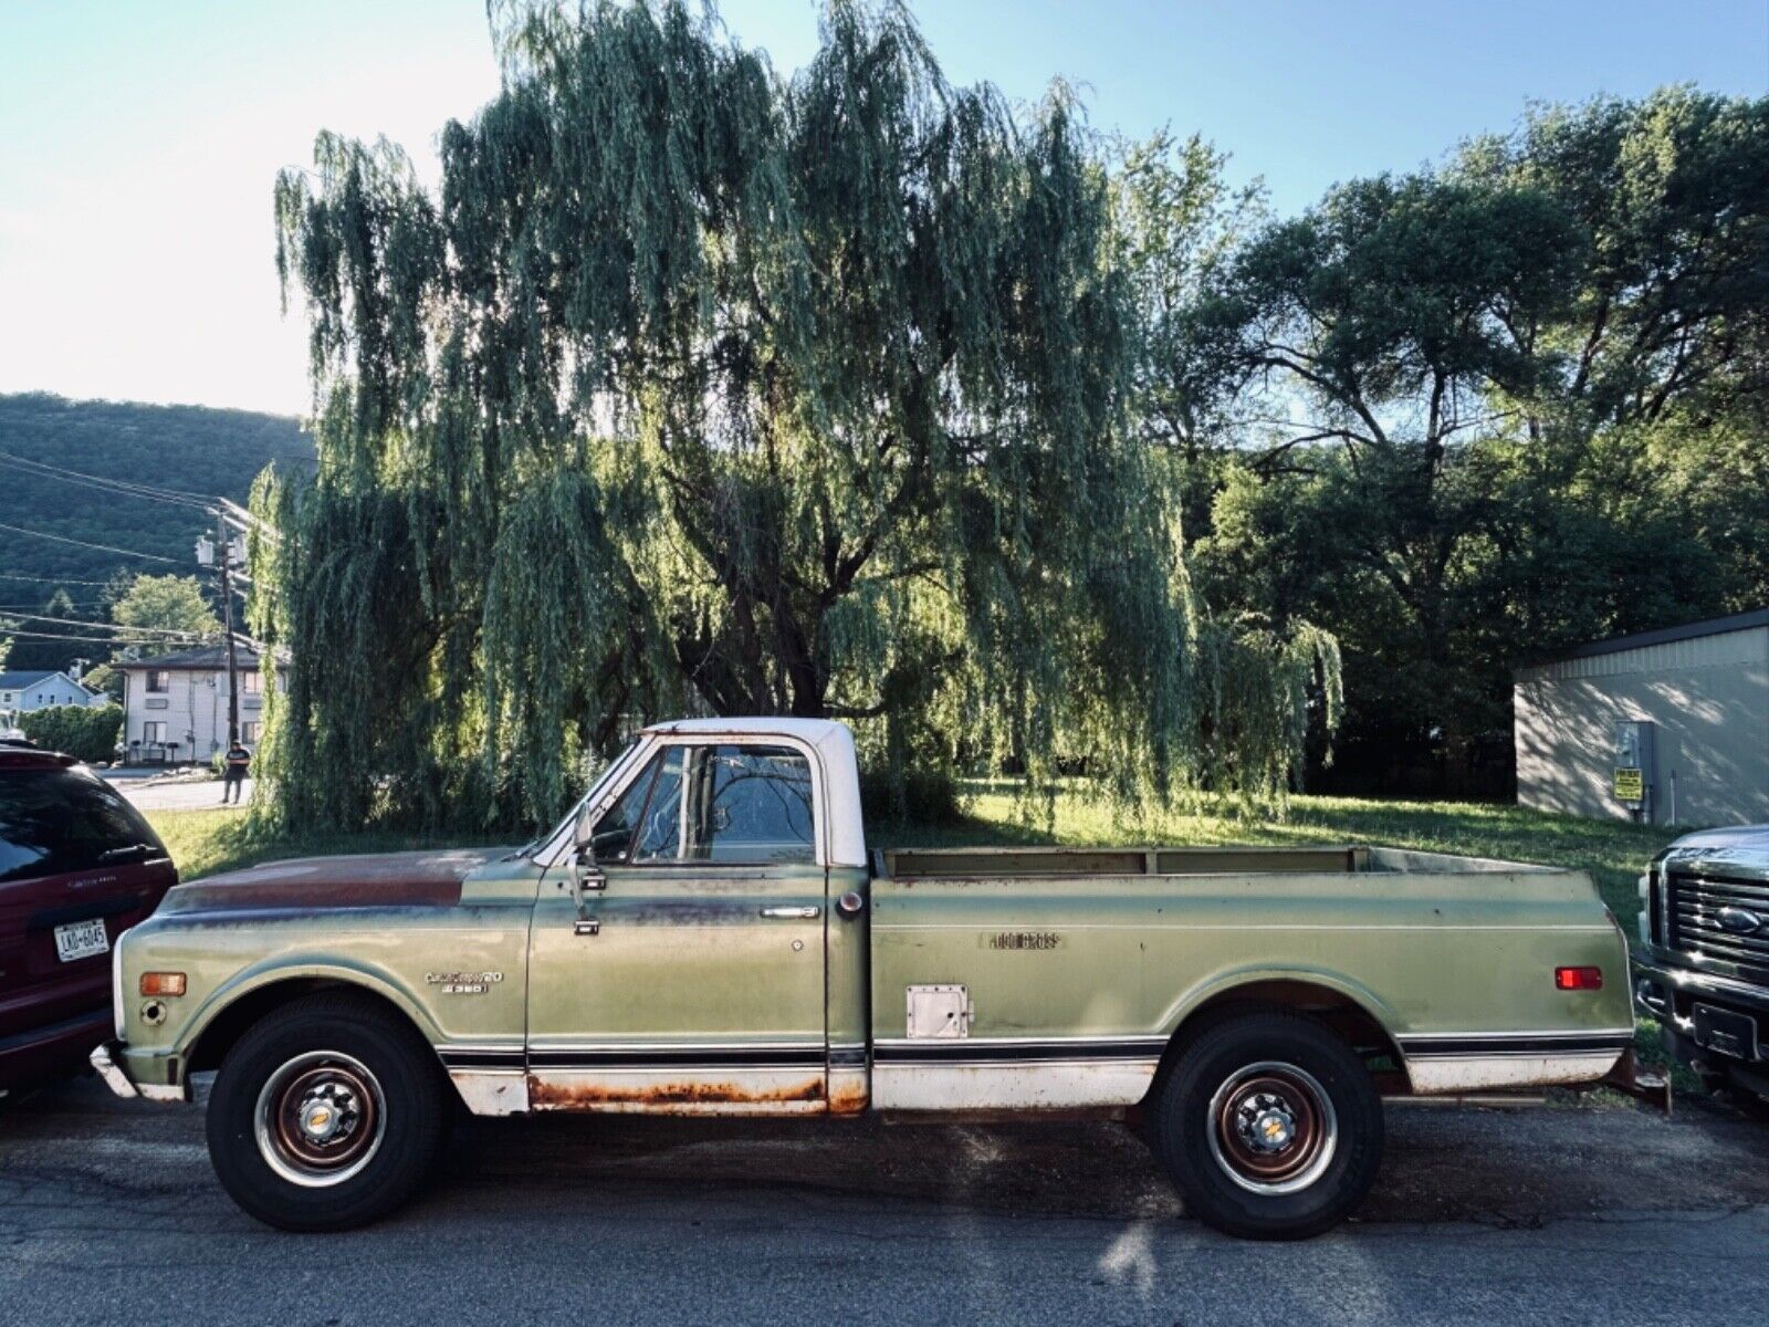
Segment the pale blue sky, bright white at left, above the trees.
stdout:
<path fill-rule="evenodd" d="M 1081 85 L 1100 129 L 1199 131 L 1279 211 L 1433 161 L 1530 99 L 1769 92 L 1769 0 L 920 0 L 959 83 Z M 791 71 L 810 0 L 725 0 Z M 313 133 L 430 143 L 497 87 L 483 0 L 4 0 L 0 391 L 301 412 L 271 180 Z"/>

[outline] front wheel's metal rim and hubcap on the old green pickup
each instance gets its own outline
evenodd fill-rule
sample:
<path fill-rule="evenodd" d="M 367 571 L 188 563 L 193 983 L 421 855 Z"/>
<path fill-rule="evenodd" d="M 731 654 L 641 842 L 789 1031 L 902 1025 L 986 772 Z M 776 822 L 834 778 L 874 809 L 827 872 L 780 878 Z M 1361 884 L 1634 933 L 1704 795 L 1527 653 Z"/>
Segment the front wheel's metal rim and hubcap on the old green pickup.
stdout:
<path fill-rule="evenodd" d="M 356 1056 L 310 1051 L 258 1092 L 258 1154 L 290 1184 L 343 1184 L 361 1173 L 386 1132 L 380 1083 Z"/>

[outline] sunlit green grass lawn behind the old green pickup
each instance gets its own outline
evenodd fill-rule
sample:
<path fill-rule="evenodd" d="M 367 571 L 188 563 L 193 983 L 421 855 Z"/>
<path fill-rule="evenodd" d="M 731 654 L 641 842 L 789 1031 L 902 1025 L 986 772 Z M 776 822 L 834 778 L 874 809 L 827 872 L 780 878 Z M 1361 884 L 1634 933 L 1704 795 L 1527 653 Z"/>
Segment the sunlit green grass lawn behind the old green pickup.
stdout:
<path fill-rule="evenodd" d="M 255 835 L 235 810 L 159 810 L 149 819 L 172 849 L 184 879 L 278 856 L 382 853 L 402 848 L 444 848 L 513 842 L 486 835 L 416 835 L 380 830 L 267 839 Z M 1387 844 L 1431 853 L 1498 856 L 1589 871 L 1604 902 L 1635 932 L 1640 899 L 1635 892 L 1647 860 L 1670 839 L 1663 828 L 1622 821 L 1544 816 L 1518 807 L 1463 802 L 1371 802 L 1298 796 L 1283 821 L 1231 812 L 1169 812 L 1130 823 L 1079 796 L 1056 803 L 1051 826 L 1026 823 L 1010 789 L 980 784 L 968 816 L 952 825 L 883 825 L 870 832 L 879 846 L 952 848 L 969 844 Z"/>

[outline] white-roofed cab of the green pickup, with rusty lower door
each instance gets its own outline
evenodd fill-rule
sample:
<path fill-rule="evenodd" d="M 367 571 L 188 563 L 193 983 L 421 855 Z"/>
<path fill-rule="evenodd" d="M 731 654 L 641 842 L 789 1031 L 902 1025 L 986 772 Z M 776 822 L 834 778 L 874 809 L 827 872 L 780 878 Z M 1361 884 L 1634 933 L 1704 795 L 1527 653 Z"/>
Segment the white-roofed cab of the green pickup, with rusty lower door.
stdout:
<path fill-rule="evenodd" d="M 863 1109 L 858 789 L 837 724 L 649 731 L 536 856 L 527 1063 L 508 1104 Z"/>

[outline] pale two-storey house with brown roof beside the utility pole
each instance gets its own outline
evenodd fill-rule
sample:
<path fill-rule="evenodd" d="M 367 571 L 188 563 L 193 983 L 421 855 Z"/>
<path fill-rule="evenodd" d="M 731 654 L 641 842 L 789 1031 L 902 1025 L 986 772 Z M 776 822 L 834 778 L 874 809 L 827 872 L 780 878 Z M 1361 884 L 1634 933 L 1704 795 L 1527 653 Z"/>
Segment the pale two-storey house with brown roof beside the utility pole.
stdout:
<path fill-rule="evenodd" d="M 239 662 L 239 736 L 258 743 L 264 672 L 244 646 Z M 209 761 L 226 747 L 226 646 L 202 646 L 113 665 L 124 676 L 122 741 L 129 764 Z"/>

